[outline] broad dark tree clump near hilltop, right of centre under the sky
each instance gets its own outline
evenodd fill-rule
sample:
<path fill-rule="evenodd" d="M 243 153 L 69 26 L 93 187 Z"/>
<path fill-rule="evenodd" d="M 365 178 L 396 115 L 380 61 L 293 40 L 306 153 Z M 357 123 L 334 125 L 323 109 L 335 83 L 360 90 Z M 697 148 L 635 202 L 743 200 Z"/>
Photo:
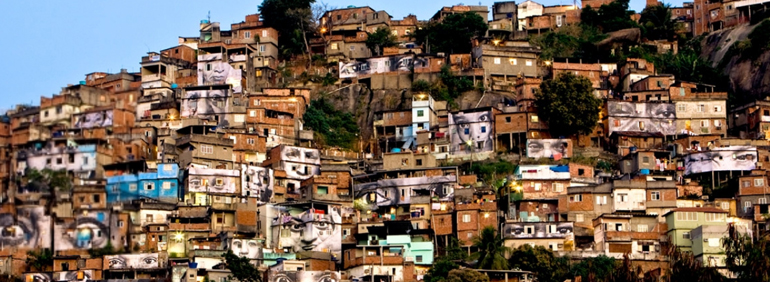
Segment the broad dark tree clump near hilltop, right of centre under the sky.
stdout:
<path fill-rule="evenodd" d="M 452 14 L 441 22 L 432 22 L 414 33 L 418 44 L 430 46 L 431 53 L 459 54 L 471 52 L 471 39 L 484 36 L 487 19 L 474 12 Z"/>

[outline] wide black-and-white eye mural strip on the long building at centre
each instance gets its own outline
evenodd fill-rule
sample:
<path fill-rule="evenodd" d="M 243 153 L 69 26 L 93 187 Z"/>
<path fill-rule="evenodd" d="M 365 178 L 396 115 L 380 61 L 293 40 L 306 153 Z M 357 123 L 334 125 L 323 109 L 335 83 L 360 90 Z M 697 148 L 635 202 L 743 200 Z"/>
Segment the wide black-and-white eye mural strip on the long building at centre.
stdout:
<path fill-rule="evenodd" d="M 412 195 L 454 200 L 454 175 L 380 179 L 354 185 L 355 198 L 376 207 L 410 204 Z"/>

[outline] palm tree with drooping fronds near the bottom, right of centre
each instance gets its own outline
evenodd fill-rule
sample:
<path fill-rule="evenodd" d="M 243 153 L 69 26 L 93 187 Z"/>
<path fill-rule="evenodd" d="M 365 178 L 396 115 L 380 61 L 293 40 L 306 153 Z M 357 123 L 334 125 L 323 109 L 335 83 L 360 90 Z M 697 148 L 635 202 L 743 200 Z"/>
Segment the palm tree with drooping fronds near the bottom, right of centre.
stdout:
<path fill-rule="evenodd" d="M 478 269 L 508 270 L 508 260 L 505 254 L 510 251 L 503 243 L 503 238 L 497 235 L 492 226 L 484 227 L 479 236 L 473 238 L 473 247 L 478 251 L 471 255 L 477 259 Z"/>

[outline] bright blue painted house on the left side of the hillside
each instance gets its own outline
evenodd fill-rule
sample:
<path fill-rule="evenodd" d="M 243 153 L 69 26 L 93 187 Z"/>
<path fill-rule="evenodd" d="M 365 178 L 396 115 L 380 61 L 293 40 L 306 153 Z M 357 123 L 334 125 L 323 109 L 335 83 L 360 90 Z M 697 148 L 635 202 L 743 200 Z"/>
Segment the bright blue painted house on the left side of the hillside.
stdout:
<path fill-rule="evenodd" d="M 179 199 L 179 165 L 158 164 L 156 172 L 118 175 L 107 178 L 107 202 L 155 199 L 176 203 Z"/>

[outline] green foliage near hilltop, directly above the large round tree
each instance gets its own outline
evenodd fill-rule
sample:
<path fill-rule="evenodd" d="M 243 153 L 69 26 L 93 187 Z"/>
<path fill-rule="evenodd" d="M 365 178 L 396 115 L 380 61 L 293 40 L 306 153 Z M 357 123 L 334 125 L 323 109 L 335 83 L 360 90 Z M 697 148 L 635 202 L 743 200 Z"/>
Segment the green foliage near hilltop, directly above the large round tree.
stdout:
<path fill-rule="evenodd" d="M 579 58 L 585 60 L 599 59 L 596 42 L 604 39 L 605 35 L 599 29 L 586 25 L 567 25 L 557 31 L 532 35 L 529 42 L 540 47 L 540 58 Z"/>

